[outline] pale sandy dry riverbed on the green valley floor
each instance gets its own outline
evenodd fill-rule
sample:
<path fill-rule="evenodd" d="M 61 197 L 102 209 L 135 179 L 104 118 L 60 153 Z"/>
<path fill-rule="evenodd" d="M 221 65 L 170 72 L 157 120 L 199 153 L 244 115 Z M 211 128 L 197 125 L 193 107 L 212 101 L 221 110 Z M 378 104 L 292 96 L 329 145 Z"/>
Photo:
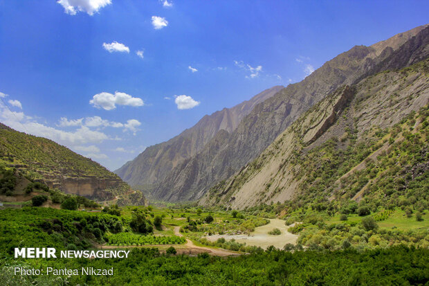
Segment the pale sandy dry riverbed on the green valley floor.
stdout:
<path fill-rule="evenodd" d="M 282 234 L 268 234 L 268 232 L 272 231 L 273 229 L 280 229 Z M 214 242 L 219 238 L 225 238 L 226 240 L 232 240 L 233 238 L 239 243 L 246 243 L 247 245 L 262 247 L 263 249 L 266 249 L 270 245 L 282 249 L 284 247 L 284 244 L 296 244 L 296 240 L 298 240 L 298 235 L 289 233 L 287 229 L 289 229 L 289 226 L 286 226 L 284 224 L 284 220 L 270 219 L 270 222 L 268 224 L 255 228 L 255 231 L 250 233 L 250 235 L 209 235 L 205 238 L 207 238 L 211 242 Z"/>

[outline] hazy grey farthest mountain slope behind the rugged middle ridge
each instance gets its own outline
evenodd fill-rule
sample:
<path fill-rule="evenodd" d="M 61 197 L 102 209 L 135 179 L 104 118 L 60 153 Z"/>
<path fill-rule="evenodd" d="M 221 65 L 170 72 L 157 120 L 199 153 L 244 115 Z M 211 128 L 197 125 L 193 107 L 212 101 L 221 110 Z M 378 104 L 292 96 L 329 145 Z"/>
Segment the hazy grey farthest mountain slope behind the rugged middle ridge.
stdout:
<path fill-rule="evenodd" d="M 219 130 L 234 131 L 241 119 L 249 114 L 255 105 L 271 98 L 282 88 L 276 86 L 266 89 L 235 107 L 224 108 L 210 116 L 204 116 L 196 125 L 178 136 L 150 146 L 136 159 L 116 170 L 116 174 L 132 186 L 151 185 L 162 181 L 172 168 L 197 154 Z"/>

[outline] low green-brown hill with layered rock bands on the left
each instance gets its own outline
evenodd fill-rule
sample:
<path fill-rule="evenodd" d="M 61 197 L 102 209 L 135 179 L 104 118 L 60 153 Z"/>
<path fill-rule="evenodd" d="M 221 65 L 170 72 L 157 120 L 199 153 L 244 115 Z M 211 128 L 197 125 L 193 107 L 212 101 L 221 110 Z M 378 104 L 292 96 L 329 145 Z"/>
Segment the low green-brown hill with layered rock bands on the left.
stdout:
<path fill-rule="evenodd" d="M 99 201 L 133 192 L 120 177 L 91 159 L 51 140 L 17 132 L 1 123 L 0 164 L 16 168 L 50 188 Z M 145 204 L 143 195 L 140 194 L 138 201 Z"/>

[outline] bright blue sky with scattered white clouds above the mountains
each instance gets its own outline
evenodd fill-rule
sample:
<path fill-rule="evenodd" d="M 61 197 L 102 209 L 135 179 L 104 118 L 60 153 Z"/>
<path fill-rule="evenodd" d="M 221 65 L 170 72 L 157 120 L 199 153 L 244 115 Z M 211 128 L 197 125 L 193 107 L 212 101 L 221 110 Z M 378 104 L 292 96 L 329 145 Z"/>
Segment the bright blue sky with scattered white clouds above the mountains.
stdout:
<path fill-rule="evenodd" d="M 428 11 L 428 1 L 0 0 L 0 121 L 115 170 L 205 114 L 427 24 Z"/>

